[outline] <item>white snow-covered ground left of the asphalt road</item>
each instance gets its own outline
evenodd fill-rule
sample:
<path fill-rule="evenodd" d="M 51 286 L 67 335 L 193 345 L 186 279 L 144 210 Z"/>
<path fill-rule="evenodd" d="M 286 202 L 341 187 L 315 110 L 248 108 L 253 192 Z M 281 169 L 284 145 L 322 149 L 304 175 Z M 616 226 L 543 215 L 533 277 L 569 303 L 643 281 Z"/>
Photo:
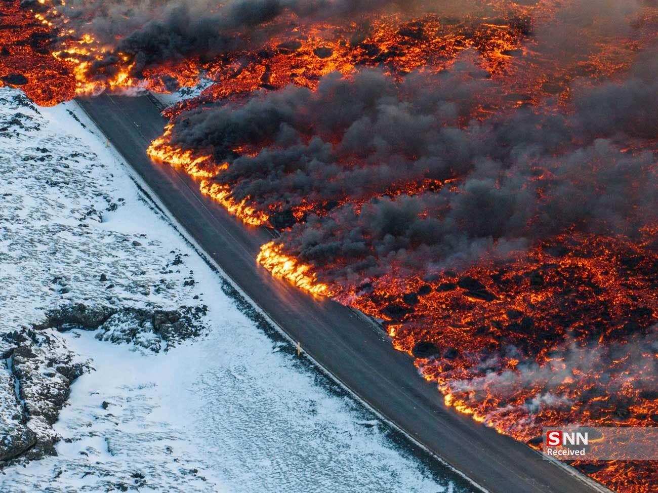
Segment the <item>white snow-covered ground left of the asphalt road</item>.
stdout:
<path fill-rule="evenodd" d="M 297 357 L 76 103 L 0 89 L 0 180 L 0 452 L 57 451 L 14 457 L 1 492 L 463 490 Z M 46 316 L 74 303 L 103 307 L 99 328 Z M 204 305 L 190 338 L 176 314 Z"/>

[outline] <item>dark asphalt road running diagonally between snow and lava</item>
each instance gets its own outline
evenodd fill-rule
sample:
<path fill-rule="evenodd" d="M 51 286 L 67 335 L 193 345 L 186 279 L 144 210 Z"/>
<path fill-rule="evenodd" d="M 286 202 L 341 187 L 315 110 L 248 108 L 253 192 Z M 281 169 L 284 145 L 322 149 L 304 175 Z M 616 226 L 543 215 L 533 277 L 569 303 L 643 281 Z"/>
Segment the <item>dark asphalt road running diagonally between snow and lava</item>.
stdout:
<path fill-rule="evenodd" d="M 592 493 L 592 484 L 542 460 L 526 445 L 443 404 L 411 359 L 373 324 L 329 299 L 316 299 L 257 265 L 266 228 L 243 225 L 184 172 L 153 163 L 147 145 L 164 119 L 149 97 L 81 99 L 114 147 L 168 212 L 293 340 L 372 408 L 468 478 L 493 493 Z"/>

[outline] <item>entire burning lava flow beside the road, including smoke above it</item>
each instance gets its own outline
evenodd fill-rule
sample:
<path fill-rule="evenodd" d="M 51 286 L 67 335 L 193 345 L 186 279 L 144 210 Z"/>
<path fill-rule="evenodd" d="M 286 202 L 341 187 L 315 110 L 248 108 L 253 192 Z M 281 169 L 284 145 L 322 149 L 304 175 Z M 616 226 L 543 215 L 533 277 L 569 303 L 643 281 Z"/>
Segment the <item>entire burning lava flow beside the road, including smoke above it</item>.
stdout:
<path fill-rule="evenodd" d="M 2 80 L 40 104 L 201 80 L 148 153 L 279 230 L 272 274 L 380 319 L 447 405 L 530 446 L 658 426 L 655 3 L 232 5 L 5 3 Z"/>

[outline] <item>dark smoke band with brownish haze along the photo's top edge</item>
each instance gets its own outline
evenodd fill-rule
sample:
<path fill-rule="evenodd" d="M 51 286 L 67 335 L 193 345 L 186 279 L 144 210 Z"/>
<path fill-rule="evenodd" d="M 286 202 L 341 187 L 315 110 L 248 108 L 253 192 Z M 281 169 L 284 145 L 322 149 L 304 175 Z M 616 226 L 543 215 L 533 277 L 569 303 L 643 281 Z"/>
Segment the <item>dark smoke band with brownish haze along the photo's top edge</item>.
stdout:
<path fill-rule="evenodd" d="M 600 1 L 600 0 L 599 0 Z M 171 61 L 199 57 L 202 61 L 258 51 L 272 36 L 290 32 L 290 22 L 277 21 L 295 14 L 296 24 L 345 19 L 359 28 L 354 39 L 365 39 L 368 14 L 395 12 L 409 16 L 437 13 L 445 18 L 495 16 L 500 7 L 480 0 L 72 0 L 53 7 L 67 20 L 61 27 L 76 35 L 91 34 L 111 47 L 105 59 L 91 66 L 90 76 L 102 79 L 119 70 L 121 55 L 134 62 L 132 75 Z M 510 7 L 513 3 L 510 4 Z M 55 19 L 56 20 L 56 19 Z"/>

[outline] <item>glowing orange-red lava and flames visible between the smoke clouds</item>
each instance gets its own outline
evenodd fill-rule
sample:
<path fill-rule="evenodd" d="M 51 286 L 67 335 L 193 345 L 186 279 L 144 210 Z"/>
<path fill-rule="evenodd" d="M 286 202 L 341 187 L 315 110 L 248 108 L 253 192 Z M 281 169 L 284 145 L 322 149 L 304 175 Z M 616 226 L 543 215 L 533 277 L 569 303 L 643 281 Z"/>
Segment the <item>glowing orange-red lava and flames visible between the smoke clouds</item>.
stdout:
<path fill-rule="evenodd" d="M 0 30 L 0 47 L 9 47 L 9 55 L 0 55 L 0 78 L 5 81 L 2 84 L 20 83 L 36 103 L 54 105 L 75 95 L 101 91 L 166 91 L 163 76 L 175 78 L 180 86 L 193 86 L 203 74 L 213 84 L 199 97 L 165 112 L 172 122 L 147 153 L 155 161 L 186 172 L 199 182 L 203 194 L 245 224 L 261 226 L 281 212 L 283 205 L 259 206 L 253 200 L 256 197 L 236 199 L 235 184 L 222 180 L 229 163 L 216 162 L 212 149 L 182 149 L 172 143 L 176 117 L 186 109 L 239 101 L 251 91 L 273 91 L 288 84 L 315 90 L 321 76 L 340 72 L 349 77 L 361 66 L 381 67 L 399 79 L 413 70 L 440 72 L 457 60 L 472 61 L 495 82 L 495 91 L 482 94 L 482 104 L 469 119 L 484 120 L 501 109 L 528 103 L 562 109 L 568 104 L 574 78 L 588 74 L 590 81 L 615 80 L 628 70 L 633 53 L 658 39 L 658 9 L 647 7 L 633 20 L 636 28 L 628 35 L 599 35 L 595 22 L 580 26 L 581 38 L 591 47 L 587 55 L 556 59 L 542 53 L 528 32 L 535 25 L 557 22 L 556 14 L 570 3 L 542 0 L 524 6 L 492 0 L 478 3 L 480 9 L 457 19 L 439 14 L 409 18 L 375 13 L 363 16 L 363 24 L 343 19 L 340 25 L 304 22 L 290 13 L 264 26 L 264 36 L 255 37 L 264 41 L 244 51 L 217 60 L 190 57 L 168 61 L 136 73 L 136 62 L 129 53 L 103 45 L 89 32 L 75 32 L 70 20 L 48 9 L 45 0 L 39 0 L 42 7 L 34 11 L 22 9 L 18 0 L 5 1 L 0 8 L 5 20 L 20 28 Z M 367 30 L 362 29 L 365 24 Z M 363 39 L 353 41 L 355 34 Z M 116 59 L 111 70 L 99 70 L 97 66 L 103 65 L 99 62 L 109 55 Z M 11 77 L 16 74 L 24 75 L 27 82 Z M 632 152 L 634 145 L 628 143 L 626 151 Z M 254 155 L 259 149 L 234 152 Z M 550 170 L 542 170 L 537 180 L 551 180 Z M 458 181 L 403 182 L 372 196 L 414 195 L 442 188 L 457 193 Z M 362 205 L 349 197 L 337 202 L 357 211 Z M 308 199 L 291 207 L 291 215 L 302 222 L 307 215 L 326 214 L 326 205 Z M 640 240 L 568 233 L 547 240 L 548 246 L 573 246 L 563 255 L 547 253 L 547 245 L 533 246 L 503 267 L 483 261 L 459 276 L 440 272 L 439 280 L 430 281 L 400 267 L 363 282 L 370 285 L 367 289 L 323 282 L 325 272 L 304 263 L 280 243 L 261 247 L 257 261 L 274 276 L 313 295 L 333 297 L 384 320 L 397 350 L 413 355 L 419 343 L 431 342 L 439 353 L 415 357 L 415 364 L 424 378 L 437 384 L 446 405 L 528 441 L 543 425 L 570 421 L 624 426 L 658 423 L 658 401 L 642 397 L 638 391 L 644 378 L 653 379 L 655 386 L 650 364 L 655 363 L 655 355 L 642 355 L 637 362 L 611 361 L 605 372 L 624 377 L 626 384 L 619 388 L 605 382 L 610 375 L 603 376 L 604 369 L 590 371 L 576 364 L 567 373 L 574 365 L 565 363 L 565 354 L 576 363 L 584 361 L 587 353 L 582 348 L 587 348 L 591 338 L 601 347 L 630 344 L 632 337 L 624 326 L 629 313 L 636 313 L 632 319 L 640 325 L 640 332 L 651 336 L 649 325 L 658 309 L 653 280 L 658 258 L 650 245 L 657 232 L 655 225 L 647 225 Z M 541 283 L 535 282 L 538 275 Z M 478 280 L 486 296 L 459 288 L 464 276 Z M 445 284 L 455 286 L 446 289 Z M 426 292 L 426 286 L 430 292 L 419 295 L 418 301 L 405 301 L 405 296 L 420 293 L 421 288 Z M 399 313 L 394 313 L 396 309 Z M 571 346 L 565 346 L 567 339 Z M 506 353 L 504 348 L 512 346 L 525 352 Z M 446 348 L 451 353 L 446 353 Z M 495 361 L 488 361 L 492 355 Z M 487 380 L 501 376 L 514 380 L 530 364 L 537 373 L 547 375 L 550 396 L 542 396 L 542 382 L 520 384 L 503 393 Z M 531 413 L 533 399 L 542 397 L 553 402 Z M 648 493 L 652 484 L 658 484 L 655 467 L 649 466 L 611 463 L 588 474 L 624 493 Z"/>

